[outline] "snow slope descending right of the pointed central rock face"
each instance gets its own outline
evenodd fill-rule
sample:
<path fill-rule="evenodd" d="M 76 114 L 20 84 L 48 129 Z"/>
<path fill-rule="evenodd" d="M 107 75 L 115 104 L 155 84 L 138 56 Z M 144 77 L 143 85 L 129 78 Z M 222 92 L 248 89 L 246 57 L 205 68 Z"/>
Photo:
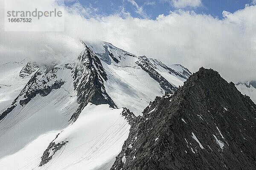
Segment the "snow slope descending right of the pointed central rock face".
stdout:
<path fill-rule="evenodd" d="M 175 89 L 183 85 L 183 82 L 191 75 L 190 71 L 182 65 L 167 66 L 160 60 L 136 56 L 108 42 L 87 42 L 87 44 L 102 61 L 108 76 L 105 87 L 111 99 L 119 108 L 127 107 L 135 115 L 141 114 L 155 96 L 165 94 L 160 82 L 152 78 L 151 73 L 144 71 L 138 63 L 148 64 L 148 67 L 153 68 L 152 70 L 159 74 L 156 77 L 162 76 Z"/>

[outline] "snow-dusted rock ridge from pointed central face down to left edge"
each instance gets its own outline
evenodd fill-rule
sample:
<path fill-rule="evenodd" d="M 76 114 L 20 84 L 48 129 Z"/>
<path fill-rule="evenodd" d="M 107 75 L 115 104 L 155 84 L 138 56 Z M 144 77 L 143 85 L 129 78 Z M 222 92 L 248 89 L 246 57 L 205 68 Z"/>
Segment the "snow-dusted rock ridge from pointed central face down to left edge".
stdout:
<path fill-rule="evenodd" d="M 112 108 L 117 108 L 105 90 L 104 81 L 107 81 L 108 78 L 99 58 L 96 57 L 87 45 L 84 44 L 84 46 L 84 51 L 82 51 L 78 60 L 73 64 L 45 65 L 38 68 L 35 63 L 28 62 L 20 71 L 20 75 L 23 78 L 32 74 L 35 69 L 38 70 L 12 102 L 12 106 L 0 115 L 0 120 L 10 113 L 17 104 L 24 106 L 37 94 L 47 96 L 53 89 L 61 88 L 65 81 L 59 79 L 57 74 L 58 72 L 64 72 L 64 69 L 72 70 L 74 90 L 77 92 L 77 103 L 79 104 L 78 109 L 73 113 L 70 120 L 76 121 L 79 113 L 81 113 L 81 110 L 88 102 L 95 105 L 109 104 Z"/>

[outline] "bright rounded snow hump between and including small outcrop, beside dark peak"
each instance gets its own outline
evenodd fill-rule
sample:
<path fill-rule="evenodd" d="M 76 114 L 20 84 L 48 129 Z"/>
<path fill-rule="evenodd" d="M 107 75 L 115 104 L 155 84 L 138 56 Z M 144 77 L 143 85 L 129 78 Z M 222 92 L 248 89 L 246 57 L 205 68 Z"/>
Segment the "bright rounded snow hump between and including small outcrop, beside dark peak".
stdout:
<path fill-rule="evenodd" d="M 119 153 L 128 137 L 130 116 L 124 112 L 89 103 L 49 144 L 35 170 L 95 170 L 103 166 Z M 111 164 L 108 166 L 110 169 Z"/>

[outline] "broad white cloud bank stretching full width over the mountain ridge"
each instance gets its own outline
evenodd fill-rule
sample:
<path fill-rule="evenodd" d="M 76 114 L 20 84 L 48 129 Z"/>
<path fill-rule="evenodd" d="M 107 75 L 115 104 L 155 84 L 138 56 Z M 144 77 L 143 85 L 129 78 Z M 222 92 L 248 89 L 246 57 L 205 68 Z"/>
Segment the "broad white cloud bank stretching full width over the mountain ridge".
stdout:
<path fill-rule="evenodd" d="M 79 40 L 104 40 L 137 55 L 180 63 L 192 72 L 204 66 L 219 71 L 228 81 L 252 80 L 256 79 L 255 11 L 256 6 L 246 6 L 234 13 L 223 12 L 220 20 L 177 10 L 151 20 L 129 14 L 87 18 L 75 7 L 67 7 L 63 32 L 8 32 L 1 24 L 0 57 L 1 62 L 24 57 L 41 63 L 67 62 L 81 52 Z"/>

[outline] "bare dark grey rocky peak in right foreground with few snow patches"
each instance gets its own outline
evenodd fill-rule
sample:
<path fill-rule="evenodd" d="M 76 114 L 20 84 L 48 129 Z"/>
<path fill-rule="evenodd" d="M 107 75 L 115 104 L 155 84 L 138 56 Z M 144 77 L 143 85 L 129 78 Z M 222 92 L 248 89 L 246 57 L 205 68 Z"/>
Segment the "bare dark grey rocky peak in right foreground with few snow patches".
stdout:
<path fill-rule="evenodd" d="M 200 68 L 131 121 L 111 170 L 254 170 L 256 105 Z"/>

